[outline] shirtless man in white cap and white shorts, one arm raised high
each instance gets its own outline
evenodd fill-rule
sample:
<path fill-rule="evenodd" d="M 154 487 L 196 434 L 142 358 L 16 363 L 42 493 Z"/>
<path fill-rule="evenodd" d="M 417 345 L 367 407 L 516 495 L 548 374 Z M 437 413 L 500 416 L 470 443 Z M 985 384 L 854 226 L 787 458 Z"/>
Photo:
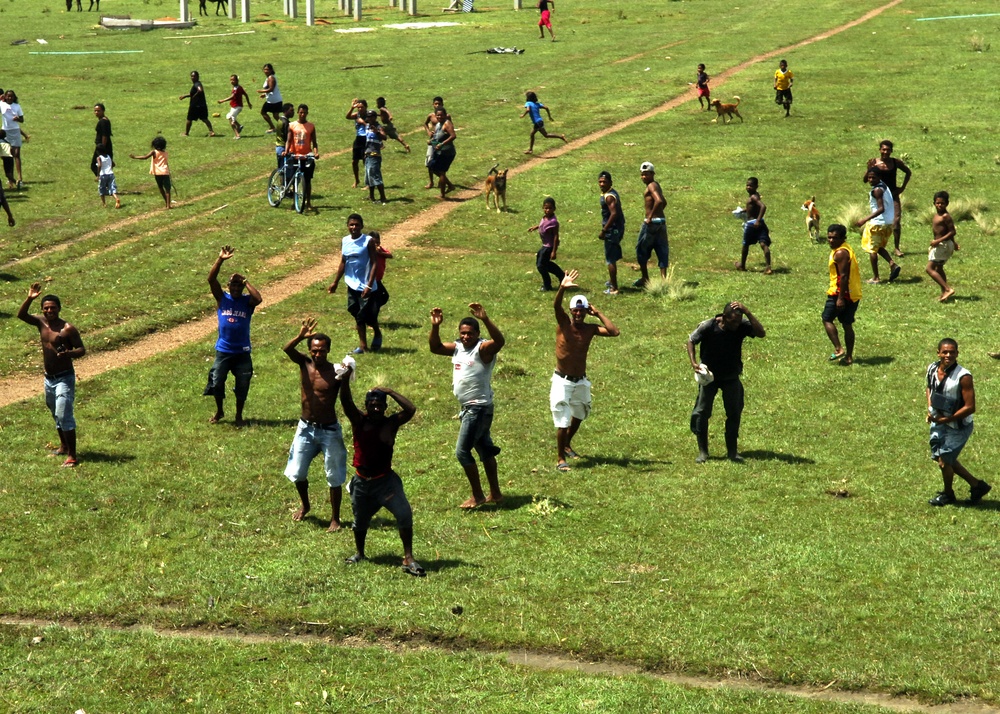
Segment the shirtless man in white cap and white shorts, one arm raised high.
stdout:
<path fill-rule="evenodd" d="M 556 427 L 556 469 L 569 471 L 566 457 L 578 459 L 573 451 L 573 437 L 580 423 L 590 415 L 590 382 L 587 381 L 587 352 L 595 337 L 618 337 L 621 334 L 614 323 L 601 311 L 587 302 L 583 295 L 574 295 L 566 314 L 562 296 L 566 288 L 575 288 L 580 274 L 571 270 L 556 290 L 556 371 L 552 375 L 549 408 Z M 600 325 L 584 322 L 587 315 L 601 321 Z"/>

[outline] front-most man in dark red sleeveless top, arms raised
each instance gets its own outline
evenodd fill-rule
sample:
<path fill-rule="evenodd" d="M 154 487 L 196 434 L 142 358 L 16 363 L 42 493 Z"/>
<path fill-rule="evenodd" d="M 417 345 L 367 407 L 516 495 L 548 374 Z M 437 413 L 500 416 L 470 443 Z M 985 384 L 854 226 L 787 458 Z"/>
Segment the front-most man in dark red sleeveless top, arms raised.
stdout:
<path fill-rule="evenodd" d="M 399 538 L 403 541 L 403 570 L 410 575 L 426 573 L 413 558 L 413 510 L 403 493 L 403 482 L 392 470 L 392 450 L 399 427 L 413 418 L 417 408 L 402 394 L 387 387 L 376 387 L 365 395 L 365 411 L 359 411 L 351 396 L 350 372 L 342 375 L 340 405 L 351 422 L 354 433 L 354 478 L 351 479 L 351 508 L 354 510 L 354 545 L 357 551 L 346 559 L 356 565 L 365 559 L 365 538 L 372 516 L 384 506 L 396 517 Z M 400 411 L 386 416 L 392 397 Z"/>

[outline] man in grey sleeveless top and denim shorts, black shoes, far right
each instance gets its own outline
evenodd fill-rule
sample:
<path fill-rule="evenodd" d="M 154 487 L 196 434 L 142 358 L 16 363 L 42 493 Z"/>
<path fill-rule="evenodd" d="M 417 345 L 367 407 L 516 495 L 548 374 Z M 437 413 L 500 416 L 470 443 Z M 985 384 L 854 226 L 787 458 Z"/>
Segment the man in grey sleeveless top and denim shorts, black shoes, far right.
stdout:
<path fill-rule="evenodd" d="M 969 484 L 969 503 L 979 503 L 993 487 L 969 473 L 958 462 L 969 437 L 976 411 L 972 374 L 958 363 L 958 343 L 950 337 L 938 343 L 938 361 L 927 367 L 927 423 L 931 425 L 931 458 L 937 461 L 944 490 L 928 503 L 955 503 L 952 483 L 958 474 Z"/>

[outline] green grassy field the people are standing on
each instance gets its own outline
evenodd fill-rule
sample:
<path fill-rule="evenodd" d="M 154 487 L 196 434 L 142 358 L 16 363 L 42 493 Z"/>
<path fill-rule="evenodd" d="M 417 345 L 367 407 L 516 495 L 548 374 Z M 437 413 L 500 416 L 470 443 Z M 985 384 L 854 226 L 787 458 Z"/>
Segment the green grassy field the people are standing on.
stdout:
<path fill-rule="evenodd" d="M 388 519 L 370 533 L 372 562 L 341 565 L 351 537 L 324 533 L 329 506 L 315 471 L 314 517 L 291 522 L 296 498 L 281 471 L 298 383 L 280 347 L 304 316 L 316 316 L 338 356 L 354 346 L 353 324 L 343 296 L 326 295 L 325 280 L 278 304 L 268 302 L 268 286 L 335 255 L 352 211 L 393 236 L 394 226 L 437 204 L 422 188 L 418 129 L 435 94 L 446 98 L 460 129 L 451 176 L 472 186 L 493 163 L 515 167 L 526 159 L 529 126 L 517 119 L 526 89 L 551 106 L 551 127 L 572 140 L 690 93 L 698 62 L 717 76 L 877 4 L 796 0 L 733 9 L 714 0 L 588 0 L 559 5 L 555 43 L 537 39 L 533 11 L 514 13 L 508 3 L 484 3 L 457 18 L 459 27 L 410 32 L 382 27 L 399 19 L 397 10 L 373 8 L 381 19 L 362 24 L 378 29 L 358 34 L 334 33 L 355 24 L 335 15 L 325 16 L 332 27 L 306 28 L 301 20 L 267 22 L 280 18 L 277 2 L 253 7 L 254 34 L 185 41 L 163 31 L 94 30 L 87 13 L 0 3 L 0 19 L 18 37 L 49 39 L 0 48 L 13 68 L 0 84 L 18 92 L 32 136 L 24 148 L 27 188 L 8 192 L 18 226 L 0 234 L 0 374 L 36 378 L 37 338 L 13 317 L 36 280 L 62 297 L 64 316 L 91 351 L 209 314 L 205 276 L 225 243 L 236 246 L 234 267 L 249 272 L 265 299 L 254 318 L 247 429 L 206 424 L 212 409 L 200 393 L 214 338 L 84 382 L 77 400 L 84 463 L 75 472 L 58 469 L 41 448 L 55 434 L 40 398 L 0 410 L 0 613 L 93 626 L 0 629 L 11 663 L 0 687 L 5 706 L 117 711 L 134 708 L 138 693 L 155 684 L 145 710 L 182 702 L 239 709 L 259 699 L 251 708 L 297 710 L 300 701 L 346 710 L 360 701 L 377 711 L 420 710 L 418 703 L 449 711 L 459 705 L 457 693 L 474 711 L 494 704 L 500 711 L 841 710 L 641 678 L 539 674 L 477 653 L 166 641 L 101 625 L 528 648 L 775 685 L 834 682 L 834 689 L 933 701 L 1000 699 L 1000 502 L 926 505 L 940 482 L 927 458 L 922 382 L 937 341 L 958 339 L 981 410 L 963 461 L 989 480 L 990 455 L 1000 447 L 992 414 L 1000 382 L 985 354 L 997 348 L 1000 261 L 990 252 L 989 209 L 1000 159 L 978 96 L 990 86 L 993 52 L 974 51 L 971 38 L 988 40 L 1000 22 L 917 19 L 987 13 L 990 3 L 908 1 L 787 51 L 796 73 L 787 120 L 772 101 L 777 60 L 751 65 L 713 83 L 715 96 L 742 97 L 744 123 L 713 124 L 689 101 L 520 173 L 510 211 L 488 213 L 481 199 L 470 200 L 397 249 L 386 277 L 393 295 L 383 312 L 386 348 L 361 358 L 355 391 L 385 382 L 418 406 L 396 454 L 415 510 L 415 555 L 430 574 L 420 581 L 399 573 Z M 161 17 L 176 6 L 123 0 L 113 12 Z M 244 29 L 212 16 L 180 34 Z M 469 54 L 497 45 L 527 51 Z M 143 52 L 27 54 L 108 49 Z M 259 117 L 244 122 L 249 136 L 240 142 L 227 138 L 221 118 L 213 121 L 222 138 L 179 136 L 185 105 L 176 97 L 187 91 L 191 69 L 218 99 L 234 71 L 248 89 L 257 86 L 265 61 L 275 64 L 287 98 L 307 102 L 316 122 L 325 154 L 314 189 L 318 215 L 267 207 L 263 179 L 273 152 Z M 384 66 L 339 69 L 359 64 Z M 387 192 L 396 200 L 384 207 L 359 200 L 349 160 L 336 154 L 351 141 L 341 117 L 362 95 L 386 96 L 396 125 L 412 132 L 413 154 L 387 152 Z M 95 101 L 107 104 L 114 123 L 125 191 L 118 212 L 100 209 L 86 165 Z M 144 152 L 161 131 L 180 192 L 170 212 L 159 208 L 146 164 L 125 158 Z M 799 206 L 815 195 L 825 226 L 862 204 L 863 167 L 883 138 L 914 170 L 904 194 L 907 256 L 898 284 L 865 286 L 857 364 L 841 368 L 826 360 L 819 320 L 828 250 L 807 237 Z M 597 173 L 614 174 L 632 231 L 645 160 L 657 165 L 667 195 L 673 277 L 690 299 L 600 293 Z M 759 253 L 751 253 L 750 272 L 731 268 L 739 223 L 729 213 L 750 175 L 760 177 L 775 239 L 770 277 L 760 272 Z M 962 250 L 948 264 L 958 298 L 943 305 L 923 274 L 929 228 L 920 220 L 941 189 L 985 209 L 978 222 L 959 223 Z M 546 195 L 559 202 L 559 263 L 581 271 L 583 291 L 622 330 L 591 351 L 594 412 L 574 442 L 585 458 L 570 474 L 553 469 L 546 394 L 554 321 L 549 296 L 537 292 L 537 238 L 526 232 Z M 856 235 L 851 241 L 857 248 Z M 619 275 L 623 285 L 637 277 L 625 265 Z M 688 431 L 696 390 L 684 341 L 731 299 L 745 302 L 768 331 L 744 349 L 747 462 L 696 466 Z M 504 449 L 508 498 L 501 508 L 464 513 L 456 508 L 467 486 L 453 455 L 450 366 L 429 355 L 426 335 L 431 307 L 444 309 L 447 335 L 473 300 L 508 339 L 494 380 L 494 437 Z M 719 454 L 718 412 L 713 429 Z M 838 491 L 849 497 L 831 495 Z M 29 661 L 25 647 L 36 634 L 45 640 L 29 650 Z M 68 671 L 78 675 L 60 689 Z M 394 675 L 393 686 L 369 684 Z M 495 698 L 485 682 L 495 683 Z M 334 698 L 324 702 L 324 690 Z M 529 705 L 517 698 L 525 691 Z"/>

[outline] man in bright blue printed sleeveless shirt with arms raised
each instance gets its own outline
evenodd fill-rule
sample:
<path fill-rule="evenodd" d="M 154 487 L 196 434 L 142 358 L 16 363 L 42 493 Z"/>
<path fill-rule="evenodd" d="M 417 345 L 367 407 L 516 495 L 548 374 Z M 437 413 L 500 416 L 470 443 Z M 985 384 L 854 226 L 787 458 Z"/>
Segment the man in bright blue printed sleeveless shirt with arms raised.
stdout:
<path fill-rule="evenodd" d="M 215 311 L 219 319 L 219 339 L 215 343 L 215 363 L 208 371 L 208 384 L 204 396 L 215 397 L 215 415 L 208 420 L 216 424 L 224 416 L 223 402 L 226 399 L 226 378 L 233 373 L 236 384 L 233 393 L 236 395 L 237 427 L 246 424 L 243 421 L 243 405 L 250 393 L 250 379 L 253 377 L 253 360 L 250 358 L 250 317 L 254 308 L 262 302 L 257 288 L 239 273 L 233 273 L 229 278 L 229 292 L 219 284 L 219 271 L 222 264 L 233 257 L 232 246 L 225 246 L 219 251 L 212 269 L 208 273 L 208 286 L 215 298 Z M 246 288 L 248 294 L 243 294 Z"/>

